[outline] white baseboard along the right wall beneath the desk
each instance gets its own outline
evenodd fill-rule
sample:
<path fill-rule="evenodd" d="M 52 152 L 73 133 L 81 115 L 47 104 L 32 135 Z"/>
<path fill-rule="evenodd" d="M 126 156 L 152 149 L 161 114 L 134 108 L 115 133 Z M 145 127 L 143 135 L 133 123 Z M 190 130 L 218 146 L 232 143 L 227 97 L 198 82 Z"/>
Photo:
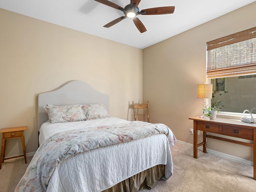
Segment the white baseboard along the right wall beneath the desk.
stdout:
<path fill-rule="evenodd" d="M 190 146 L 190 147 L 193 148 L 193 144 L 186 143 L 186 142 L 180 141 L 180 140 L 177 140 L 177 142 L 182 143 L 182 144 L 184 144 L 186 146 Z M 203 151 L 203 147 L 202 146 L 200 146 L 198 148 L 199 148 L 199 150 Z M 216 154 L 216 155 L 221 156 L 223 158 L 228 158 L 230 160 L 233 160 L 233 161 L 236 161 L 236 162 L 239 162 L 239 163 L 243 163 L 243 164 L 247 164 L 247 165 L 253 166 L 253 162 L 249 161 L 249 160 L 246 160 L 246 159 L 242 159 L 242 158 L 239 158 L 239 157 L 236 157 L 236 156 L 232 156 L 232 155 L 229 155 L 229 154 L 226 154 L 226 153 L 222 153 L 222 152 L 218 152 L 218 151 L 211 150 L 211 149 L 207 149 L 207 152 L 208 153 L 212 153 L 212 154 Z"/>

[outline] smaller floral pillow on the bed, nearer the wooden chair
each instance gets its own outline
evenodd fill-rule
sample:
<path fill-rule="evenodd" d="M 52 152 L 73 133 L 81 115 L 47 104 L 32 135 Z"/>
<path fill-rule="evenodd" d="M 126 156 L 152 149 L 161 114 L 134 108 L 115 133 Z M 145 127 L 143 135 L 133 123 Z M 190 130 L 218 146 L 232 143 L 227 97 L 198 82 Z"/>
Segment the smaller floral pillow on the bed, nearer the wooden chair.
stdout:
<path fill-rule="evenodd" d="M 104 104 L 82 105 L 87 120 L 110 117 Z"/>

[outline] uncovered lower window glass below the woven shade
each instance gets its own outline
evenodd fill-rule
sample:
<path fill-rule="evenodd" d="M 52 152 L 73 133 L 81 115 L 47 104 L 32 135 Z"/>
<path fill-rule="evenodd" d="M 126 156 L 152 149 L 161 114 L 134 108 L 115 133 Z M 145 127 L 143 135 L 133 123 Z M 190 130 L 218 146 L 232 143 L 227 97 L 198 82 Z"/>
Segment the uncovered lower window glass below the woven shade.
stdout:
<path fill-rule="evenodd" d="M 211 79 L 211 106 L 222 112 L 256 114 L 256 75 Z"/>

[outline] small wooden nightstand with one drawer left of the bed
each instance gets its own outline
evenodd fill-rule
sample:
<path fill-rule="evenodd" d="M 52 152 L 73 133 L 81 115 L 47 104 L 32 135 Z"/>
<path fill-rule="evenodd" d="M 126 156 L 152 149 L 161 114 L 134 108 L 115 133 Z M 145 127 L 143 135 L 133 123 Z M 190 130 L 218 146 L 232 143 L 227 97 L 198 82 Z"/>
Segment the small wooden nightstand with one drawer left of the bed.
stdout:
<path fill-rule="evenodd" d="M 0 169 L 2 168 L 2 163 L 4 162 L 4 160 L 7 160 L 7 159 L 12 159 L 12 158 L 24 156 L 25 163 L 27 163 L 25 139 L 24 139 L 24 130 L 27 130 L 27 129 L 28 129 L 27 126 L 10 127 L 10 128 L 2 128 L 2 129 L 0 129 L 0 133 L 2 133 Z M 14 157 L 4 158 L 5 148 L 6 148 L 6 140 L 14 139 L 14 138 L 21 138 L 22 148 L 23 148 L 23 155 L 18 155 L 18 156 L 14 156 Z"/>

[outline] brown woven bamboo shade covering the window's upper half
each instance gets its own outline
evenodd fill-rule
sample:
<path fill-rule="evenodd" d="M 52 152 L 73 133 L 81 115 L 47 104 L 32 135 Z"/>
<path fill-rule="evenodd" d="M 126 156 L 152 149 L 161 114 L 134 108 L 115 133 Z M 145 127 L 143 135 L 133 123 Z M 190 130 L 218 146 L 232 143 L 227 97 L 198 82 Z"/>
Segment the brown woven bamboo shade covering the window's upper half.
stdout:
<path fill-rule="evenodd" d="M 256 73 L 256 27 L 206 43 L 208 78 Z"/>

